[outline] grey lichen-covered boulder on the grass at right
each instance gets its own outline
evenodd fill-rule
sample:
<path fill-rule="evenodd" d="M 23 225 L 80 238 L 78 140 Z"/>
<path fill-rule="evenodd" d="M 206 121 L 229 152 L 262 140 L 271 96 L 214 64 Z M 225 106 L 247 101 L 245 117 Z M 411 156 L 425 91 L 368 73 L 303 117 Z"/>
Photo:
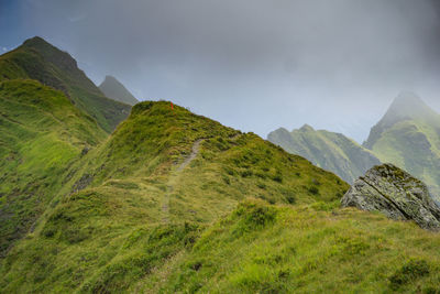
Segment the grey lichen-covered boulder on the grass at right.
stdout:
<path fill-rule="evenodd" d="M 342 206 L 381 211 L 396 220 L 414 220 L 421 228 L 440 230 L 440 208 L 428 187 L 393 164 L 369 170 L 342 197 Z"/>

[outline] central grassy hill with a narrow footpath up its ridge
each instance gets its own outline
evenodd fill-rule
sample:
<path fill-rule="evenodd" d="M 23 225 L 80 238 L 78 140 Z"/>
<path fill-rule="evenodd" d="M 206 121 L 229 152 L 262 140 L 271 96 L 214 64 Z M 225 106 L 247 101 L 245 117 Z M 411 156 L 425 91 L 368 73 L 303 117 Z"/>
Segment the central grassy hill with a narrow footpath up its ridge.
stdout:
<path fill-rule="evenodd" d="M 56 205 L 4 259 L 3 291 L 133 290 L 246 197 L 330 205 L 348 189 L 255 134 L 169 102 L 138 104 L 63 181 Z"/>

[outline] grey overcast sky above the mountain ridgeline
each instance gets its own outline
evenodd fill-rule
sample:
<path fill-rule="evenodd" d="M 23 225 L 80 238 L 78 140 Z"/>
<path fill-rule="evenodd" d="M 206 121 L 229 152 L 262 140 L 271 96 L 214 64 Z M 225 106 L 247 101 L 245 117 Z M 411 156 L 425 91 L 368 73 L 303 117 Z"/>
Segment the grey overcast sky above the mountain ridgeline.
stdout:
<path fill-rule="evenodd" d="M 402 90 L 440 110 L 436 0 L 0 0 L 0 52 L 41 35 L 96 83 L 262 137 L 362 142 Z"/>

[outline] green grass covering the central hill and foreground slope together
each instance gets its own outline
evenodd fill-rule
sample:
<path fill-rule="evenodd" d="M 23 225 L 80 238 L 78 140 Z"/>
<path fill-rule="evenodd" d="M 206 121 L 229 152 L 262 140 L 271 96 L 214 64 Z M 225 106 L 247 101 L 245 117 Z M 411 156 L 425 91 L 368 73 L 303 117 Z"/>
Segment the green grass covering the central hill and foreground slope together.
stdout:
<path fill-rule="evenodd" d="M 185 108 L 139 104 L 76 159 L 1 293 L 439 291 L 437 233 L 341 209 L 336 175 Z"/>

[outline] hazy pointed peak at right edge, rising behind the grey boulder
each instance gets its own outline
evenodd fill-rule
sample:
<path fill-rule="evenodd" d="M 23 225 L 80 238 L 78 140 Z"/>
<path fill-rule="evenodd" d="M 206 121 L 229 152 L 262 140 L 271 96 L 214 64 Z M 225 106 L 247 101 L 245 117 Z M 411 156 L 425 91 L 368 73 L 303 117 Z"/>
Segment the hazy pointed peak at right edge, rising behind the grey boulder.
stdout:
<path fill-rule="evenodd" d="M 440 115 L 413 92 L 402 92 L 374 126 L 364 146 L 424 181 L 440 196 Z"/>

